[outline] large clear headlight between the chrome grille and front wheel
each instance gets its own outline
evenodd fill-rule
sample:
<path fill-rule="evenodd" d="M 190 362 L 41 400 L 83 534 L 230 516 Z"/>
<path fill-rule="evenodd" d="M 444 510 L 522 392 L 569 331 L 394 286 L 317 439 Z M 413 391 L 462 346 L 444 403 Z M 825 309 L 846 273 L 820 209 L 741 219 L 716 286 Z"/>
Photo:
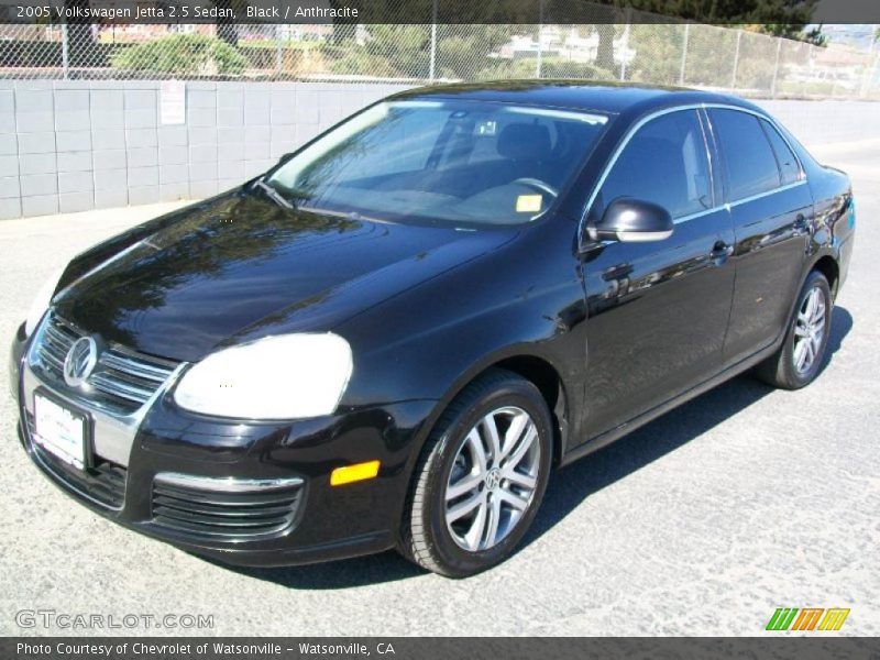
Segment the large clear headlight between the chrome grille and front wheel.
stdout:
<path fill-rule="evenodd" d="M 351 346 L 338 334 L 268 337 L 195 364 L 177 385 L 174 400 L 217 417 L 320 417 L 337 409 L 351 372 Z"/>

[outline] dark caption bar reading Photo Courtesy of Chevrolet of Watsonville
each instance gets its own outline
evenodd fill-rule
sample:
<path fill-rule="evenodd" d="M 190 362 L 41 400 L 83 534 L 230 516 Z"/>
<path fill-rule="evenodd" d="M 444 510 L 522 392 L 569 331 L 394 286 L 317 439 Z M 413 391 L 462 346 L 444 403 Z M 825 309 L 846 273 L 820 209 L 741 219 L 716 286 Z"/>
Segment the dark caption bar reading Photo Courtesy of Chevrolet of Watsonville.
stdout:
<path fill-rule="evenodd" d="M 878 653 L 880 638 L 788 632 L 743 638 L 0 638 L 3 660 L 868 660 Z"/>

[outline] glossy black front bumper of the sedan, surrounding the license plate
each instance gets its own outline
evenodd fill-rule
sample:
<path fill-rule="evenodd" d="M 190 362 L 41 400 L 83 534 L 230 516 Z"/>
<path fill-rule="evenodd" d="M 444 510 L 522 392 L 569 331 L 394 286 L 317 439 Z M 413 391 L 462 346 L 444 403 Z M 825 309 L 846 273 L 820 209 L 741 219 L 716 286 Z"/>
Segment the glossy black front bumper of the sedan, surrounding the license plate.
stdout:
<path fill-rule="evenodd" d="M 34 442 L 38 382 L 16 333 L 11 373 L 20 440 L 66 493 L 120 525 L 187 551 L 240 565 L 290 565 L 381 552 L 396 544 L 408 480 L 435 402 L 348 410 L 288 422 L 220 420 L 186 413 L 170 397 L 139 418 L 127 460 L 90 443 L 88 470 Z M 50 394 L 64 398 L 63 392 Z M 29 408 L 31 408 L 29 410 Z M 91 419 L 100 411 L 84 409 Z M 91 424 L 94 432 L 101 425 Z M 118 452 L 118 443 L 113 447 Z M 375 479 L 330 485 L 330 473 L 378 460 Z"/>

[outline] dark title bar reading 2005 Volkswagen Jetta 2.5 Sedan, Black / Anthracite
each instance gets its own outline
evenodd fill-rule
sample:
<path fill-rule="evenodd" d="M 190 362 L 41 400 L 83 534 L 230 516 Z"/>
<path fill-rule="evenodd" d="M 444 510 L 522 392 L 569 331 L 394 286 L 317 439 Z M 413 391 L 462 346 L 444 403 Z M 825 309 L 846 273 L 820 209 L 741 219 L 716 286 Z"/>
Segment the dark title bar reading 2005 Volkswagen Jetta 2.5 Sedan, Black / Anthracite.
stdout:
<path fill-rule="evenodd" d="M 0 23 L 880 23 L 877 0 L 0 0 Z"/>

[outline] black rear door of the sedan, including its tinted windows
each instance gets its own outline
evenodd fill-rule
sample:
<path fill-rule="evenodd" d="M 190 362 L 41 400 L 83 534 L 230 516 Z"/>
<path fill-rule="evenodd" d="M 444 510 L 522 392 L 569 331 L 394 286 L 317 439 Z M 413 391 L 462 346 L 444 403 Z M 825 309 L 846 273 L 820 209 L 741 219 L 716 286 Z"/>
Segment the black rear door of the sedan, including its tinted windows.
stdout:
<path fill-rule="evenodd" d="M 733 365 L 769 345 L 788 323 L 813 224 L 803 168 L 766 119 L 711 108 L 736 243 L 734 304 L 724 345 Z"/>

